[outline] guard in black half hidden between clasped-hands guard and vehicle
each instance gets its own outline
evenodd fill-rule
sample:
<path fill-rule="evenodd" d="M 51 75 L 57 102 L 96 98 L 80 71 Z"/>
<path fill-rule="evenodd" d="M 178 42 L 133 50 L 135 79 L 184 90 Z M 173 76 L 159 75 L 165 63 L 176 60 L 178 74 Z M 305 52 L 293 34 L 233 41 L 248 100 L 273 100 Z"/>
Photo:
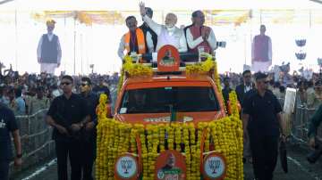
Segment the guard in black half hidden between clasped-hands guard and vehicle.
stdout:
<path fill-rule="evenodd" d="M 89 110 L 90 121 L 86 123 L 83 143 L 83 162 L 82 172 L 83 180 L 93 180 L 92 169 L 93 163 L 96 157 L 96 126 L 97 126 L 97 114 L 96 107 L 98 105 L 98 96 L 91 92 L 91 81 L 90 78 L 81 78 L 80 82 L 80 96 L 85 99 L 87 109 Z"/>

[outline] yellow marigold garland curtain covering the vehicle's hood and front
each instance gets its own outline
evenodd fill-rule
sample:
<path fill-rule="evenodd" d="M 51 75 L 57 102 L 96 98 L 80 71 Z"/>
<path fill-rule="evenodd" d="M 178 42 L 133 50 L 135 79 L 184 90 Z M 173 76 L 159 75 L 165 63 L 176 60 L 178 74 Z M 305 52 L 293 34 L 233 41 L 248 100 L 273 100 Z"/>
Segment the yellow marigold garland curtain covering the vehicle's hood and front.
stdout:
<path fill-rule="evenodd" d="M 199 179 L 201 176 L 199 171 L 200 154 L 209 151 L 208 148 L 206 148 L 207 151 L 200 151 L 201 137 L 202 132 L 208 129 L 206 142 L 213 142 L 215 151 L 222 152 L 226 158 L 227 174 L 225 179 L 242 179 L 242 123 L 238 121 L 241 120 L 234 116 L 225 117 L 208 123 L 199 123 L 197 128 L 192 129 L 193 124 L 172 123 L 171 126 L 164 124 L 143 127 L 140 125 L 131 126 L 114 119 L 99 119 L 96 177 L 102 180 L 113 179 L 116 158 L 124 152 L 137 153 L 133 139 L 134 136 L 139 135 L 142 149 L 142 179 L 154 179 L 154 165 L 159 153 L 158 147 L 161 146 L 161 142 L 165 143 L 160 141 L 160 138 L 165 137 L 165 129 L 167 129 L 169 132 L 167 135 L 168 147 L 182 152 L 186 158 L 188 179 Z M 193 134 L 197 139 L 194 144 Z M 210 141 L 210 139 L 212 140 Z M 184 151 L 181 150 L 179 142 L 184 144 Z M 209 146 L 209 143 L 204 145 Z M 166 146 L 165 149 L 167 149 Z"/>

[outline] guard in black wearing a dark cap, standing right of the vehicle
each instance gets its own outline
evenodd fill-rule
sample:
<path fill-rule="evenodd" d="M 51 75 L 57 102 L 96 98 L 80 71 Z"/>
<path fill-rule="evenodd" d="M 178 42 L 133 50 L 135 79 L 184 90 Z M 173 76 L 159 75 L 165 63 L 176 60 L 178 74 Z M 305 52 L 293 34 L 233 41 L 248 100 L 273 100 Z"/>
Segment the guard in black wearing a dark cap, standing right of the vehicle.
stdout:
<path fill-rule="evenodd" d="M 267 90 L 267 75 L 258 72 L 255 78 L 257 88 L 245 94 L 242 102 L 243 132 L 245 141 L 250 141 L 255 179 L 272 180 L 282 129 L 282 107 Z"/>

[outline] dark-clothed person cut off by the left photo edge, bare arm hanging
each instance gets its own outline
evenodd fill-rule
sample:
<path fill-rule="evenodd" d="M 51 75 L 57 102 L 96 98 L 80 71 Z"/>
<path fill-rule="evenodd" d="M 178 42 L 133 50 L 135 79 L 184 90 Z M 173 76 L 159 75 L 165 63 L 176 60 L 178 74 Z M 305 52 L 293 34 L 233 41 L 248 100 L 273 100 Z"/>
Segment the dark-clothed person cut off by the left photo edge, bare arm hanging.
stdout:
<path fill-rule="evenodd" d="M 13 158 L 12 141 L 16 149 L 16 157 L 14 158 L 14 165 L 21 166 L 21 139 L 17 122 L 13 115 L 13 110 L 5 107 L 0 103 L 0 179 L 9 180 L 9 163 Z"/>

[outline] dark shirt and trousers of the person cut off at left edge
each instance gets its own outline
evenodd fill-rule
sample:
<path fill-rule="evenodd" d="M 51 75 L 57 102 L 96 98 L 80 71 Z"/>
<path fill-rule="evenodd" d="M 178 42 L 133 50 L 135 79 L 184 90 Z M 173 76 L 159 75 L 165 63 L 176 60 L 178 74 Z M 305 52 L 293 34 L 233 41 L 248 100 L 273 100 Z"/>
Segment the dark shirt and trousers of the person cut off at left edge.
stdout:
<path fill-rule="evenodd" d="M 17 130 L 18 125 L 10 110 L 0 104 L 0 179 L 9 179 L 9 163 L 13 158 L 10 133 Z"/>

